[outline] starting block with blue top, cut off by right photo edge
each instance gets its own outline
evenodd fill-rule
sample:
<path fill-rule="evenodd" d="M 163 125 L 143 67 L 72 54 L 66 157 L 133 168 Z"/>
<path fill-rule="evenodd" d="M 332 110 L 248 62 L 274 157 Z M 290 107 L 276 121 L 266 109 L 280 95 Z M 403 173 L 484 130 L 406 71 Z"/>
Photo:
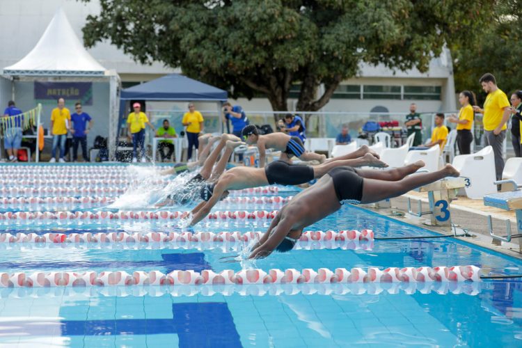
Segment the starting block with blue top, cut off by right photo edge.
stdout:
<path fill-rule="evenodd" d="M 493 241 L 497 242 L 511 242 L 512 238 L 522 237 L 522 190 L 520 186 L 514 182 L 514 180 L 500 180 L 496 181 L 495 184 L 502 184 L 512 186 L 512 191 L 492 193 L 484 196 L 484 205 L 489 207 L 496 207 L 507 211 L 515 211 L 516 215 L 516 228 L 518 233 L 512 234 L 511 221 L 506 220 L 506 232 L 505 237 L 495 235 L 493 232 L 493 222 L 491 221 L 491 215 L 488 216 L 489 235 L 493 238 Z M 519 251 L 522 252 L 522 242 L 519 239 Z"/>

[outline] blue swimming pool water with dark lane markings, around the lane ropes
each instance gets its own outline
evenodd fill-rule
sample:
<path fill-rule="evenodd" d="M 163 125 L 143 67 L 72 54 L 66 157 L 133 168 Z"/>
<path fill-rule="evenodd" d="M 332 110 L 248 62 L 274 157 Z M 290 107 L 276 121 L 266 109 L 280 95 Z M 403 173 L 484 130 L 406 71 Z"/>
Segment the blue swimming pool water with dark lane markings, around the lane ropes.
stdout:
<path fill-rule="evenodd" d="M 45 166 L 42 166 L 45 167 Z M 72 166 L 57 166 L 57 168 Z M 1 168 L 1 167 L 0 167 Z M 125 167 L 118 167 L 125 173 Z M 57 171 L 58 172 L 58 171 Z M 75 175 L 93 175 L 76 173 Z M 0 170 L 0 178 L 6 178 Z M 76 188 L 76 187 L 75 187 Z M 79 187 L 81 188 L 81 187 Z M 255 193 L 292 196 L 295 191 Z M 18 194 L 17 198 L 24 194 Z M 98 197 L 104 197 L 98 194 Z M 248 198 L 251 195 L 243 193 Z M 74 196 L 79 197 L 79 196 Z M 262 198 L 261 198 L 262 200 Z M 5 212 L 36 211 L 46 203 Z M 95 212 L 74 203 L 71 209 Z M 220 203 L 221 210 L 278 209 L 274 200 Z M 103 204 L 97 205 L 97 207 Z M 58 207 L 58 209 L 62 209 Z M 179 207 L 175 207 L 181 210 Z M 47 209 L 40 209 L 47 210 Z M 269 219 L 207 220 L 196 230 L 262 231 Z M 90 219 L 1 223 L 0 232 L 65 235 L 85 232 L 180 231 L 177 220 Z M 432 235 L 359 207 L 343 207 L 309 230 L 374 230 L 379 237 Z M 180 231 L 181 232 L 181 231 Z M 317 244 L 275 253 L 249 267 L 335 269 L 422 267 L 473 264 L 492 274 L 521 274 L 522 262 L 452 239 L 376 240 L 363 246 Z M 223 262 L 241 247 L 205 243 L 38 244 L 0 243 L 0 273 L 38 271 L 152 271 L 174 269 L 239 271 Z M 358 283 L 286 285 L 133 285 L 119 287 L 0 288 L 0 344 L 72 347 L 347 347 L 520 346 L 522 283 Z"/>

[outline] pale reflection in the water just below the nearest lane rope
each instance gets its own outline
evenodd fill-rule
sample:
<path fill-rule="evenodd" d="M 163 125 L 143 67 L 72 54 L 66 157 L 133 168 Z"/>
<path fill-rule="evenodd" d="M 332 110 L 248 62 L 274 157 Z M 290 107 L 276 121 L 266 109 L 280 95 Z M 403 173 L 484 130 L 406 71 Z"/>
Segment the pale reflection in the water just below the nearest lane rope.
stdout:
<path fill-rule="evenodd" d="M 466 294 L 475 296 L 480 293 L 480 282 L 438 282 L 438 283 L 308 283 L 308 284 L 261 284 L 261 285 L 187 285 L 187 286 L 126 286 L 126 287 L 11 287 L 0 292 L 0 299 L 31 296 L 37 299 L 55 299 L 57 297 L 81 295 L 97 296 L 213 296 L 222 294 L 231 296 L 280 296 L 280 295 L 344 295 L 372 294 Z"/>

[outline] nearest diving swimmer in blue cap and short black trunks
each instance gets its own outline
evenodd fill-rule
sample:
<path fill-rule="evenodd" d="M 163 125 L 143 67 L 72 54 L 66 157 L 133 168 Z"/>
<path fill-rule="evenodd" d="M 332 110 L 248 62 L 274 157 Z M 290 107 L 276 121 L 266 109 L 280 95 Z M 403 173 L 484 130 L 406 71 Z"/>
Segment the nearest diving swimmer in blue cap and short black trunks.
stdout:
<path fill-rule="evenodd" d="M 423 161 L 389 171 L 346 166 L 332 168 L 316 184 L 301 191 L 280 209 L 248 258 L 266 258 L 274 251 L 285 253 L 292 250 L 304 228 L 337 212 L 345 203 L 375 203 L 401 196 L 444 177 L 459 176 L 459 171 L 450 164 L 440 171 L 410 175 L 422 166 Z"/>

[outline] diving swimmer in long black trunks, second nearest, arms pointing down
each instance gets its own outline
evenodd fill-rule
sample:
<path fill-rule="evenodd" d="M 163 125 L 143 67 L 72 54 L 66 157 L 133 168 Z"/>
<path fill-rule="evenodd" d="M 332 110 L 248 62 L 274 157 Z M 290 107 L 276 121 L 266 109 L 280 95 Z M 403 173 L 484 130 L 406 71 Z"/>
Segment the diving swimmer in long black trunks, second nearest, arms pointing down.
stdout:
<path fill-rule="evenodd" d="M 272 184 L 306 184 L 311 180 L 322 177 L 331 168 L 337 166 L 373 166 L 383 168 L 388 165 L 380 161 L 375 152 L 363 145 L 354 152 L 328 159 L 323 164 L 317 166 L 292 165 L 286 161 L 274 161 L 265 168 L 238 166 L 223 173 L 215 182 L 207 182 L 203 186 L 200 191 L 203 202 L 192 210 L 193 218 L 190 226 L 203 220 L 219 200 L 228 196 L 228 191 L 230 190 L 251 189 Z M 381 171 L 368 171 L 367 175 L 371 177 L 373 172 L 376 172 L 375 175 L 382 173 Z M 397 169 L 385 173 L 390 177 L 402 175 L 402 172 Z"/>

